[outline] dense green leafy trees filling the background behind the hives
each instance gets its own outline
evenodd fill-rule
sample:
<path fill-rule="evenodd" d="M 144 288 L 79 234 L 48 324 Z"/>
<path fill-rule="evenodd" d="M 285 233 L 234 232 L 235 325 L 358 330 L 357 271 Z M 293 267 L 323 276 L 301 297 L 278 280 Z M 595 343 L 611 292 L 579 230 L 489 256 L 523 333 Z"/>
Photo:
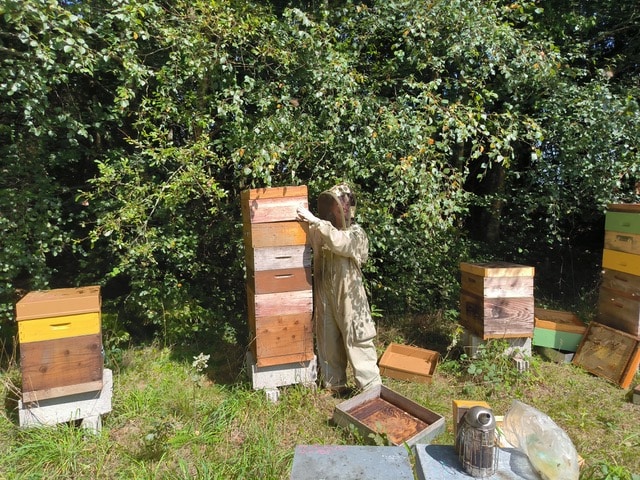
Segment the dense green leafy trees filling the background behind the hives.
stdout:
<path fill-rule="evenodd" d="M 633 2 L 271 4 L 3 2 L 3 336 L 25 291 L 91 283 L 135 336 L 243 343 L 250 187 L 352 183 L 385 313 L 639 199 Z"/>

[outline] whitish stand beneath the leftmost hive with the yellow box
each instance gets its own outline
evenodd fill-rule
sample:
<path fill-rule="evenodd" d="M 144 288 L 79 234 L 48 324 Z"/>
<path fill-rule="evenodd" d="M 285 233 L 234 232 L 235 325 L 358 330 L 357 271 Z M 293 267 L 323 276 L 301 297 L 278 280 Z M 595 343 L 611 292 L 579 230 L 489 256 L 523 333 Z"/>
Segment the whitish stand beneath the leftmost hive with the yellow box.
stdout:
<path fill-rule="evenodd" d="M 111 411 L 112 371 L 104 369 L 102 379 L 102 389 L 96 392 L 82 392 L 41 401 L 18 401 L 20 426 L 35 427 L 81 421 L 82 428 L 91 433 L 100 433 L 102 415 Z"/>

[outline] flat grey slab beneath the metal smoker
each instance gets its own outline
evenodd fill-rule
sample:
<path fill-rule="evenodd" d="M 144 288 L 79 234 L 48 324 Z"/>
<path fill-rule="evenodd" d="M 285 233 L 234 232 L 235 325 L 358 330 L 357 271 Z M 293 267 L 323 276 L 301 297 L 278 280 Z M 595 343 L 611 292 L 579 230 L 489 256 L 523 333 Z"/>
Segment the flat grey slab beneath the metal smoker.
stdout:
<path fill-rule="evenodd" d="M 418 480 L 469 480 L 453 445 L 415 445 Z M 527 456 L 514 448 L 498 450 L 498 470 L 489 478 L 540 480 Z"/>

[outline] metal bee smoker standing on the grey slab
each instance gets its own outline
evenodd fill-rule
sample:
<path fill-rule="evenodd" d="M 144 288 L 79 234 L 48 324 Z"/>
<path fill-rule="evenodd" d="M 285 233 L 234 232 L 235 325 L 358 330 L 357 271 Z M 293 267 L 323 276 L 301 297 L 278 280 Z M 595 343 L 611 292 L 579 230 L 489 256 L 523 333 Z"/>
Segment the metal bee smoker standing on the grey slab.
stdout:
<path fill-rule="evenodd" d="M 496 420 L 493 412 L 471 407 L 460 419 L 456 451 L 464 471 L 476 478 L 490 477 L 498 468 Z"/>

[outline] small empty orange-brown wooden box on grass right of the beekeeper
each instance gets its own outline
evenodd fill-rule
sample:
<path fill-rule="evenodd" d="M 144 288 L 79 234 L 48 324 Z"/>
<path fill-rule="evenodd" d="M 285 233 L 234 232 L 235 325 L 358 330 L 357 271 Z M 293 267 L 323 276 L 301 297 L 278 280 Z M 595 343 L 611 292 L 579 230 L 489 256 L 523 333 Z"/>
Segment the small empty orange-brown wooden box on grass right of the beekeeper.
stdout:
<path fill-rule="evenodd" d="M 380 375 L 417 383 L 431 383 L 440 354 L 432 350 L 391 343 L 380 357 Z"/>

